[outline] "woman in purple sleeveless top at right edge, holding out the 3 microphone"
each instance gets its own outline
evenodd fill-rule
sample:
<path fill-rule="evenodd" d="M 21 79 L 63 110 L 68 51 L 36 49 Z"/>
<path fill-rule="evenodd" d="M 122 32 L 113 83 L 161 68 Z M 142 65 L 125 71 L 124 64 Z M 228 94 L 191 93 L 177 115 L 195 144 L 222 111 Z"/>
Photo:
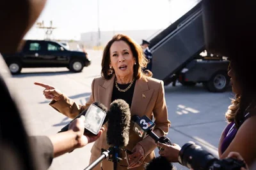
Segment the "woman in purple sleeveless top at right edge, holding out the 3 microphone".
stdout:
<path fill-rule="evenodd" d="M 241 71 L 239 67 L 243 66 L 242 64 L 245 63 L 241 60 L 239 62 L 236 59 L 230 60 L 228 76 L 230 76 L 232 91 L 236 96 L 235 99 L 232 99 L 232 104 L 228 106 L 228 111 L 225 114 L 228 124 L 221 134 L 218 153 L 220 159 L 224 159 L 230 152 L 237 152 L 248 166 L 252 166 L 256 160 L 256 95 L 254 94 L 255 87 L 243 81 L 241 72 L 244 70 Z M 246 74 L 254 75 L 252 71 L 246 72 Z M 170 162 L 178 162 L 179 145 L 168 146 L 159 143 L 158 146 L 164 148 L 159 151 L 160 155 L 166 157 Z"/>

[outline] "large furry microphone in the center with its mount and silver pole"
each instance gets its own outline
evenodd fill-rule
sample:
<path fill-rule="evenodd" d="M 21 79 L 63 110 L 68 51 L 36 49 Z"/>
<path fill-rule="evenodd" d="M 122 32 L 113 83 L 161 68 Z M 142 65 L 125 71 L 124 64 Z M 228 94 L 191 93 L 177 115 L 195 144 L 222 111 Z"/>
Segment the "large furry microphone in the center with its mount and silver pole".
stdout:
<path fill-rule="evenodd" d="M 108 150 L 102 149 L 102 154 L 92 164 L 84 170 L 93 169 L 99 162 L 108 157 L 114 164 L 114 170 L 117 169 L 117 163 L 120 159 L 120 148 L 127 146 L 129 142 L 129 131 L 131 121 L 131 111 L 129 104 L 122 99 L 116 99 L 110 104 L 108 115 L 107 143 L 110 145 Z"/>

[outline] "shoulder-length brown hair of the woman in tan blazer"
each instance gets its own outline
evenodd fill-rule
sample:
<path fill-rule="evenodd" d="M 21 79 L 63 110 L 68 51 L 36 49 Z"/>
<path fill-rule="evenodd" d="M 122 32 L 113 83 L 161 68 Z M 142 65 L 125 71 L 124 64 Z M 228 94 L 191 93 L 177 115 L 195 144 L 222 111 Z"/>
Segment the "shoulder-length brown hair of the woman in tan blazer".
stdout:
<path fill-rule="evenodd" d="M 152 72 L 147 70 L 143 71 L 148 64 L 148 60 L 146 59 L 144 52 L 138 43 L 136 43 L 133 39 L 129 38 L 129 36 L 125 36 L 124 34 L 116 34 L 113 38 L 108 42 L 103 51 L 102 61 L 101 61 L 101 76 L 106 80 L 109 80 L 115 71 L 109 67 L 110 64 L 110 48 L 111 45 L 115 41 L 124 41 L 129 45 L 132 51 L 132 55 L 135 58 L 136 64 L 133 67 L 134 78 L 145 78 L 146 76 L 152 76 Z"/>

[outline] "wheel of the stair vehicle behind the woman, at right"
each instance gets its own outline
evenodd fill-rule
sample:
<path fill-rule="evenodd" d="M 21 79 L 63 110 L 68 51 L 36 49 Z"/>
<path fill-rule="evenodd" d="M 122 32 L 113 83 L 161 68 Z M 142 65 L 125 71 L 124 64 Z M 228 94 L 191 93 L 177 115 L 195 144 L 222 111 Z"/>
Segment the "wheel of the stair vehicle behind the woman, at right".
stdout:
<path fill-rule="evenodd" d="M 225 71 L 215 73 L 211 80 L 204 83 L 204 86 L 210 92 L 225 92 L 229 84 L 230 78 Z"/>

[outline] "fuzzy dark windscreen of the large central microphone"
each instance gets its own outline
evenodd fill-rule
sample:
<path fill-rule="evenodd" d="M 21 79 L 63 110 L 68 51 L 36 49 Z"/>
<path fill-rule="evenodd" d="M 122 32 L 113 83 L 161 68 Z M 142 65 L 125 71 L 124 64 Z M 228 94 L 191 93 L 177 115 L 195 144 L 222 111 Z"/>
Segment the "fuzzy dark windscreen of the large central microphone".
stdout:
<path fill-rule="evenodd" d="M 127 146 L 131 111 L 129 104 L 122 99 L 116 99 L 110 104 L 108 115 L 107 142 L 111 146 Z"/>

